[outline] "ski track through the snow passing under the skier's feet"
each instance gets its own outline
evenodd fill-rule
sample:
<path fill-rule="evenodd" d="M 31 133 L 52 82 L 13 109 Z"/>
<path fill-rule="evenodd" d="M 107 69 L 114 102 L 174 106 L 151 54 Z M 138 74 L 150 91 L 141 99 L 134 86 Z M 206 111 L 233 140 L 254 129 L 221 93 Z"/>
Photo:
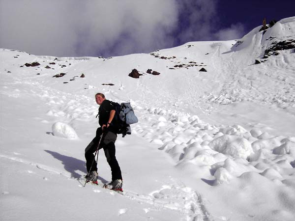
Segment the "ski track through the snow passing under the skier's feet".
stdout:
<path fill-rule="evenodd" d="M 53 168 L 51 166 L 46 166 L 42 164 L 36 164 L 33 162 L 29 162 L 25 159 L 19 157 L 11 157 L 6 155 L 0 155 L 0 158 L 5 158 L 14 162 L 30 165 L 33 167 L 37 167 L 38 169 L 42 169 L 51 174 L 61 175 L 67 179 L 77 180 L 80 184 L 80 187 L 84 186 L 85 180 L 75 179 L 71 177 L 70 173 L 64 172 L 64 170 L 60 170 L 57 168 Z M 28 170 L 28 173 L 35 173 L 31 170 Z M 43 178 L 45 181 L 46 177 Z M 200 194 L 184 186 L 179 181 L 175 181 L 171 178 L 172 185 L 164 185 L 162 189 L 155 190 L 148 195 L 135 193 L 129 190 L 125 190 L 123 193 L 114 192 L 112 190 L 107 190 L 102 188 L 103 184 L 100 185 L 91 185 L 86 184 L 87 186 L 92 186 L 94 193 L 107 192 L 112 195 L 121 195 L 123 197 L 129 198 L 130 200 L 136 200 L 139 203 L 149 204 L 150 206 L 145 210 L 148 211 L 159 211 L 163 209 L 178 211 L 183 214 L 186 221 L 210 221 L 209 213 L 207 212 L 205 205 L 203 203 L 202 197 Z M 127 209 L 119 210 L 118 214 L 122 215 L 127 212 Z"/>

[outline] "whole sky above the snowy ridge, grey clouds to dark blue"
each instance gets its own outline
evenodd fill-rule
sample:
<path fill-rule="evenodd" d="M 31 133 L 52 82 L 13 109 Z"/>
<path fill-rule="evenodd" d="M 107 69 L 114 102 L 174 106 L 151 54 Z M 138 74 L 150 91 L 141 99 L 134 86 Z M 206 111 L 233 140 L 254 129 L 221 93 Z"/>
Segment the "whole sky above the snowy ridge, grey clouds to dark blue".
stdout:
<path fill-rule="evenodd" d="M 241 38 L 294 0 L 1 0 L 0 47 L 52 56 L 150 53 Z"/>

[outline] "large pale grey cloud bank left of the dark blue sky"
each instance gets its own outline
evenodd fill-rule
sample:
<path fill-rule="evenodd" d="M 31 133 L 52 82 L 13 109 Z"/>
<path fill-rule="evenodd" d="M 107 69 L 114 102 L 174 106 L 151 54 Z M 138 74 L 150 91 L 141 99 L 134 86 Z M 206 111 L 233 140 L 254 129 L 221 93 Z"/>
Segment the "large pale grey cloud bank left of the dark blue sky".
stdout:
<path fill-rule="evenodd" d="M 2 48 L 119 55 L 171 44 L 177 8 L 175 0 L 1 0 L 0 20 Z"/>

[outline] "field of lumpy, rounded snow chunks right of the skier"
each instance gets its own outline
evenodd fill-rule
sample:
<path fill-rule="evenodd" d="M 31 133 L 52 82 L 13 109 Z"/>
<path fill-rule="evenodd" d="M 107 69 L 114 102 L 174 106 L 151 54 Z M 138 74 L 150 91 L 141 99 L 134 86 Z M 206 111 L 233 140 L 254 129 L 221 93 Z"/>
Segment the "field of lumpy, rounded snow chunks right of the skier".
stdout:
<path fill-rule="evenodd" d="M 158 123 L 151 123 L 149 129 L 136 125 L 134 128 L 136 134 L 160 146 L 159 149 L 171 155 L 179 165 L 209 166 L 207 167 L 208 173 L 213 172 L 215 184 L 230 182 L 231 179 L 240 176 L 243 172 L 263 172 L 255 169 L 252 165 L 264 162 L 266 158 L 271 159 L 275 164 L 281 157 L 277 156 L 278 154 L 291 154 L 288 157 L 291 166 L 295 157 L 292 154 L 294 153 L 294 143 L 288 141 L 294 138 L 267 137 L 258 139 L 256 137 L 261 132 L 252 129 L 254 135 L 252 137 L 251 133 L 240 125 L 218 128 L 200 121 L 195 115 L 179 118 L 175 115 L 180 113 L 163 111 L 160 108 L 148 111 L 154 114 L 154 120 L 149 116 L 149 121 L 158 121 Z M 144 115 L 148 114 L 144 113 Z M 269 149 L 273 149 L 274 152 L 268 151 Z M 261 154 L 261 151 L 264 151 L 265 154 Z M 276 168 L 278 168 L 277 166 L 279 165 L 276 165 Z M 288 173 L 284 171 L 284 168 L 280 171 L 283 174 Z"/>

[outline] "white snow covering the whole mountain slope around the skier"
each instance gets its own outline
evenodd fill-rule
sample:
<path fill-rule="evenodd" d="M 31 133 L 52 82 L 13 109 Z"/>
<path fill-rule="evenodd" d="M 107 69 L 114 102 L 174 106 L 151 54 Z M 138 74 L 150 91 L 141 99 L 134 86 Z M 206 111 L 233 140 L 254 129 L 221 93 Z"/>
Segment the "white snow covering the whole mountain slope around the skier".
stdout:
<path fill-rule="evenodd" d="M 263 55 L 295 39 L 295 17 L 260 28 L 113 58 L 0 49 L 0 220 L 294 221 L 295 53 Z M 116 141 L 123 193 L 80 179 L 97 92 L 139 119 Z M 101 151 L 98 174 L 110 181 Z"/>

